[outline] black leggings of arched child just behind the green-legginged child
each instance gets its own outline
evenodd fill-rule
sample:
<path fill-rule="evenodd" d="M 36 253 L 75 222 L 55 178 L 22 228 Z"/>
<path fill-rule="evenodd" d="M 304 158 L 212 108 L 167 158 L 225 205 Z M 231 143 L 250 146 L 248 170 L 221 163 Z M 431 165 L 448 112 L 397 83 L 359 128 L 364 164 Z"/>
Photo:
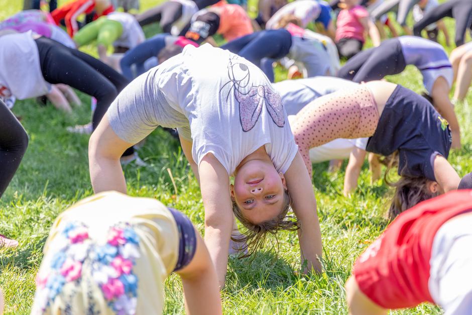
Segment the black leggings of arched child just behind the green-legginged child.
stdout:
<path fill-rule="evenodd" d="M 136 16 L 136 20 L 138 20 L 141 26 L 159 22 L 162 31 L 170 33 L 172 24 L 181 16 L 182 5 L 176 1 L 169 1 Z"/>

